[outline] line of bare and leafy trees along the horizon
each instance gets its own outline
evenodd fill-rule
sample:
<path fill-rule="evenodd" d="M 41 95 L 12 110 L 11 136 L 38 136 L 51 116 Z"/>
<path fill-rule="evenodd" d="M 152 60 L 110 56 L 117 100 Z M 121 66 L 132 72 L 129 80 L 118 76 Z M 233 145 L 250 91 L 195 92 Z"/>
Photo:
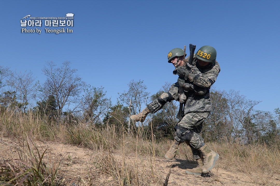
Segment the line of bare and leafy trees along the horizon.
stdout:
<path fill-rule="evenodd" d="M 171 85 L 166 82 L 161 90 L 149 96 L 143 81 L 131 80 L 127 84 L 128 89 L 118 93 L 117 103 L 112 105 L 104 87 L 87 85 L 70 64 L 64 61 L 57 67 L 52 61 L 46 62 L 42 69 L 46 76 L 43 84 L 35 81 L 31 71 L 13 72 L 0 66 L 0 108 L 23 114 L 38 113 L 46 120 L 57 123 L 68 121 L 69 124 L 70 120 L 75 120 L 89 126 L 114 125 L 119 131 L 123 128 L 127 131 L 130 128 L 129 115 L 141 112 L 143 105 L 168 91 Z M 274 113 L 255 110 L 260 102 L 248 100 L 235 90 L 211 89 L 210 96 L 213 110 L 204 123 L 202 136 L 205 140 L 243 144 L 280 142 L 279 108 L 274 109 Z M 158 140 L 162 137 L 173 139 L 173 127 L 179 121 L 177 113 L 178 102 L 168 102 L 160 111 L 149 115 L 144 123 L 131 123 L 132 132 L 141 127 L 142 132 L 148 135 L 153 130 Z"/>

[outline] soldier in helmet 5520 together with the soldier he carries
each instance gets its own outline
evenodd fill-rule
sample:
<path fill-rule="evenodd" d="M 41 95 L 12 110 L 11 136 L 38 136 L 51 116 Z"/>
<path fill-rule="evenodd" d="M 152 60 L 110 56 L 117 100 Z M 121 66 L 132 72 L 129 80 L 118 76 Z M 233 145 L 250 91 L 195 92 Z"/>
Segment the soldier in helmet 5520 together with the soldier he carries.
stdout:
<path fill-rule="evenodd" d="M 185 103 L 183 118 L 174 127 L 175 140 L 165 154 L 165 158 L 174 159 L 179 144 L 186 142 L 198 163 L 196 168 L 186 169 L 188 174 L 208 173 L 219 158 L 219 154 L 209 149 L 200 136 L 202 124 L 212 109 L 210 87 L 220 72 L 216 54 L 216 49 L 213 47 L 203 46 L 195 53 L 193 61 L 188 61 L 190 56 L 184 59 L 182 49 L 172 49 L 168 53 L 168 63 L 172 63 L 176 68 L 173 74 L 179 75 L 178 81 L 171 85 L 168 92 L 162 93 L 148 104 L 141 113 L 130 116 L 133 121 L 143 122 L 149 113 L 157 112 L 166 102 L 172 100 L 182 102 L 183 99 Z"/>

